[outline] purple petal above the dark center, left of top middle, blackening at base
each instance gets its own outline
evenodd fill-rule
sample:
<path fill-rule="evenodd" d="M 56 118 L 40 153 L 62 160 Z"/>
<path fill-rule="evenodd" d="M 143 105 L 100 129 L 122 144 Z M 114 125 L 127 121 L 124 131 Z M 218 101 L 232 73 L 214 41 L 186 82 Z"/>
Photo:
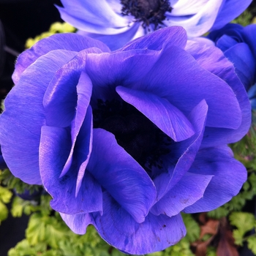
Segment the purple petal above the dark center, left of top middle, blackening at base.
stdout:
<path fill-rule="evenodd" d="M 92 108 L 97 108 L 97 99 L 105 101 L 118 97 L 116 86 L 137 87 L 154 67 L 159 56 L 160 52 L 154 50 L 88 54 L 86 73 L 94 85 Z"/>

